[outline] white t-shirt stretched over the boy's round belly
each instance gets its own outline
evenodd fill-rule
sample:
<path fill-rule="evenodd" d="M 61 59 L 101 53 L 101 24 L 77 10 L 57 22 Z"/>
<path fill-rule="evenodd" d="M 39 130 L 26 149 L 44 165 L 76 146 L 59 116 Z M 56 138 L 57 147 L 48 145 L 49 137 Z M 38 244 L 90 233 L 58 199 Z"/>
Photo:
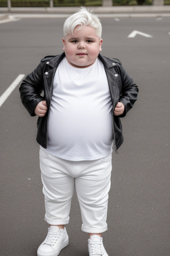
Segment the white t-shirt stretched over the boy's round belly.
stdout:
<path fill-rule="evenodd" d="M 46 153 L 70 161 L 112 153 L 112 100 L 102 62 L 76 68 L 62 60 L 54 75 Z"/>

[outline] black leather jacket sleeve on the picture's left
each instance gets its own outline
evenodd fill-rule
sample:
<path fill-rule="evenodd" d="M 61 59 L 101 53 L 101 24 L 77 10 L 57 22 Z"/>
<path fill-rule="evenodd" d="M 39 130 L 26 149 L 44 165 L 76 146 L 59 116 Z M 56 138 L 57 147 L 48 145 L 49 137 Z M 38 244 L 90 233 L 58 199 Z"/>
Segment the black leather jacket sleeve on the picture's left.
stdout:
<path fill-rule="evenodd" d="M 19 87 L 21 101 L 31 116 L 35 116 L 35 107 L 40 101 L 44 100 L 41 96 L 42 89 L 43 73 L 42 63 L 40 63 L 32 73 L 25 77 Z"/>

